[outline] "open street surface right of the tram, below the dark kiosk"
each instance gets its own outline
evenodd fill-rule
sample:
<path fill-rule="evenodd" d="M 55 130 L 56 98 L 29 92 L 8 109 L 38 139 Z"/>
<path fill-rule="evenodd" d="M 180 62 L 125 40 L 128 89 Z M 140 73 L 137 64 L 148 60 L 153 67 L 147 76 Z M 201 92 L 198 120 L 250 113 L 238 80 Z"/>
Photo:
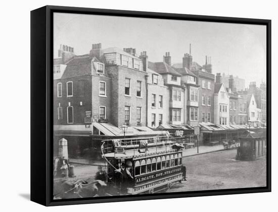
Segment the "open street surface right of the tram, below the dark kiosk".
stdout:
<path fill-rule="evenodd" d="M 167 192 L 266 186 L 266 158 L 235 160 L 237 150 L 223 150 L 183 158 L 187 181 Z"/>

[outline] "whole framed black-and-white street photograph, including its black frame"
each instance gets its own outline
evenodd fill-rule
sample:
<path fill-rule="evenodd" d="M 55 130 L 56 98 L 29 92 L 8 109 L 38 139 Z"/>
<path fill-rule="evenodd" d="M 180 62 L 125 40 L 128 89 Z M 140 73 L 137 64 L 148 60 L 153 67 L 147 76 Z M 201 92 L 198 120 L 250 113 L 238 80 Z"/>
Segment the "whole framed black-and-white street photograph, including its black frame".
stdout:
<path fill-rule="evenodd" d="M 271 21 L 31 11 L 31 200 L 271 191 Z"/>

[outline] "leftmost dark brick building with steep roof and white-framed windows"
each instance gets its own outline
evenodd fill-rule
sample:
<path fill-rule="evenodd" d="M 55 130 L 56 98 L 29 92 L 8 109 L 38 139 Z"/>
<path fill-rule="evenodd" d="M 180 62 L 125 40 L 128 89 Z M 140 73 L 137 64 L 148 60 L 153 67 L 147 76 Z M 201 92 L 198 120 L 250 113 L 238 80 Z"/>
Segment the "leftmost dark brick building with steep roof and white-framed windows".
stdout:
<path fill-rule="evenodd" d="M 63 49 L 59 53 L 68 58 L 54 60 L 54 124 L 83 125 L 93 117 L 110 120 L 111 78 L 105 64 L 91 55 L 69 57 L 73 52 Z"/>

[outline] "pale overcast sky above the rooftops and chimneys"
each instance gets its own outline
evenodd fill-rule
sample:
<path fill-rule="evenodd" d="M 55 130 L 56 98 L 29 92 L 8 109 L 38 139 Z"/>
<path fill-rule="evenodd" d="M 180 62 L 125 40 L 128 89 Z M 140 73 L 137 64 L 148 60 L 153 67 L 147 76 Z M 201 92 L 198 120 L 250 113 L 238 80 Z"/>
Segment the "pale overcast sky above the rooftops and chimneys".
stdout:
<path fill-rule="evenodd" d="M 56 13 L 54 57 L 60 44 L 74 47 L 76 55 L 88 54 L 92 43 L 103 48 L 136 48 L 147 51 L 149 61 L 163 60 L 170 52 L 172 64 L 182 63 L 184 53 L 205 64 L 211 57 L 212 72 L 239 76 L 257 85 L 266 80 L 266 27 L 165 19 L 127 18 Z"/>

